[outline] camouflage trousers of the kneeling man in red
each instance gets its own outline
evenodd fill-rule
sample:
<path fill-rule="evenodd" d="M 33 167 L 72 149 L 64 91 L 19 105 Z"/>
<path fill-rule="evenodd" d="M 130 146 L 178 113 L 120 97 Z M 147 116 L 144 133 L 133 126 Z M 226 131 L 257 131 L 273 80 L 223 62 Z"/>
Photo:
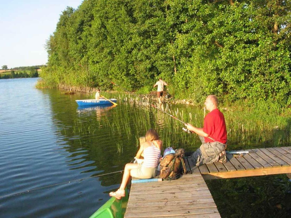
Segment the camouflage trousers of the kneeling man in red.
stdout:
<path fill-rule="evenodd" d="M 225 150 L 226 145 L 221 142 L 205 142 L 203 136 L 199 136 L 202 145 L 192 154 L 192 160 L 196 166 L 205 163 L 213 163 L 219 160 L 219 153 Z"/>

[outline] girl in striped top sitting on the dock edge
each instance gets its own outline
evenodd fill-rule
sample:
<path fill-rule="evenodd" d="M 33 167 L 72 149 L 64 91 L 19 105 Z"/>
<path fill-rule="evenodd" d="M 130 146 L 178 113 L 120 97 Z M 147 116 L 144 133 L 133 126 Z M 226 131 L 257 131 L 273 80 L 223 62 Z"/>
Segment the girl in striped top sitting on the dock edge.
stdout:
<path fill-rule="evenodd" d="M 124 197 L 125 187 L 131 176 L 140 179 L 155 177 L 157 175 L 157 167 L 159 165 L 162 147 L 163 142 L 159 139 L 157 131 L 154 129 L 149 129 L 145 134 L 145 142 L 141 144 L 139 151 L 135 156 L 135 158 L 140 158 L 143 153 L 143 163 L 126 164 L 119 189 L 115 192 L 110 192 L 109 195 L 117 199 Z"/>

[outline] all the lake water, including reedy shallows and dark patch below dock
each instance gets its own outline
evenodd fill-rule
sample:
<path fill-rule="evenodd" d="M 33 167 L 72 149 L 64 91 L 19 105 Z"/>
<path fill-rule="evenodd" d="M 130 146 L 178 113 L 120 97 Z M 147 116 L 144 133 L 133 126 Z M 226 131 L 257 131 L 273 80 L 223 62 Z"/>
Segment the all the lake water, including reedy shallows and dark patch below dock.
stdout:
<path fill-rule="evenodd" d="M 1 196 L 122 170 L 149 126 L 163 133 L 165 146 L 184 144 L 189 151 L 200 145 L 197 137 L 166 128 L 181 126 L 166 121 L 163 114 L 156 117 L 151 108 L 122 101 L 117 107 L 78 108 L 75 100 L 93 94 L 40 90 L 34 88 L 36 81 L 0 80 L 0 217 L 89 217 L 109 199 L 122 174 Z M 222 217 L 287 217 L 286 211 L 276 208 L 290 187 L 286 178 L 250 177 L 207 184 Z"/>

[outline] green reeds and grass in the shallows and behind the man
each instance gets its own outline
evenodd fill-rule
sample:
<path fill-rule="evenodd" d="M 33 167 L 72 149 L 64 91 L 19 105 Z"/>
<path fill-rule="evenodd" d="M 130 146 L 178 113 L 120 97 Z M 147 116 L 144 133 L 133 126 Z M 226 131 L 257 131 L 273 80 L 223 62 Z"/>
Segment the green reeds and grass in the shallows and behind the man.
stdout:
<path fill-rule="evenodd" d="M 141 99 L 129 94 L 104 93 L 107 98 L 117 98 L 119 106 L 114 108 L 110 116 L 104 114 L 96 121 L 84 123 L 75 121 L 72 128 L 63 129 L 72 135 L 93 135 L 103 128 L 109 128 L 111 137 L 124 141 L 134 140 L 139 144 L 139 137 L 144 136 L 149 128 L 157 129 L 164 142 L 164 148 L 173 146 L 194 150 L 200 146 L 198 135 L 182 131 L 184 125 L 157 110 Z M 270 111 L 262 112 L 256 107 L 236 106 L 224 110 L 219 108 L 226 120 L 229 149 L 249 149 L 255 147 L 286 146 L 291 143 L 291 119 Z M 193 126 L 203 126 L 201 107 L 165 104 L 164 110 Z M 123 153 L 121 144 L 117 144 L 117 152 Z"/>

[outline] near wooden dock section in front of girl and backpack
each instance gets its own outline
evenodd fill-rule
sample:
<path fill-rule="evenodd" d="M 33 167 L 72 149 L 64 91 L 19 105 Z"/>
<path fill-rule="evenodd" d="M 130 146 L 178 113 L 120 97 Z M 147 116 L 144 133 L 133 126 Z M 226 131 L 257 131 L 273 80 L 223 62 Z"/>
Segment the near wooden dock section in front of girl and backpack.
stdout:
<path fill-rule="evenodd" d="M 201 174 L 178 180 L 131 185 L 124 218 L 220 217 Z"/>

